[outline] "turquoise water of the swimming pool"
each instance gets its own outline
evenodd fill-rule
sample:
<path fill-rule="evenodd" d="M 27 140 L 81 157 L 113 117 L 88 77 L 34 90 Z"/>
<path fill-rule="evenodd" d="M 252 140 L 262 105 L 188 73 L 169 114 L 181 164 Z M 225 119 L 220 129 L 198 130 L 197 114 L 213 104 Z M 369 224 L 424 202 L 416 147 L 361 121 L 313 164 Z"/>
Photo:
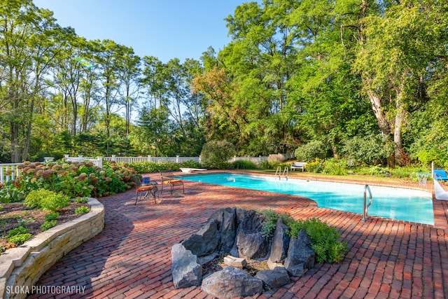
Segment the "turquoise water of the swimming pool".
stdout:
<path fill-rule="evenodd" d="M 198 174 L 183 179 L 307 197 L 318 207 L 363 213 L 364 185 L 281 179 L 245 174 Z M 432 195 L 420 190 L 370 186 L 372 205 L 368 214 L 434 225 Z M 367 192 L 367 201 L 368 201 Z"/>

